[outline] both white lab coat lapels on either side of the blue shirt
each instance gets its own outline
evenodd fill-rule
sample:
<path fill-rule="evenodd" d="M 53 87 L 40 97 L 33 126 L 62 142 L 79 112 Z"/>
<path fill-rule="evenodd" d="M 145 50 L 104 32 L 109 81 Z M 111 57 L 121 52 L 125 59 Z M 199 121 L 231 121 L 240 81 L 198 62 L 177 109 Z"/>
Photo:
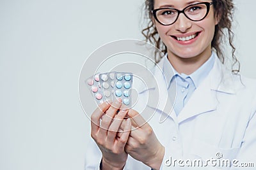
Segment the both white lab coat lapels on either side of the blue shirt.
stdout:
<path fill-rule="evenodd" d="M 159 67 L 163 68 L 161 64 L 163 63 L 159 63 Z M 216 92 L 223 92 L 227 95 L 235 94 L 236 90 L 233 87 L 234 83 L 232 83 L 232 76 L 230 74 L 231 72 L 216 57 L 211 72 L 202 81 L 198 89 L 193 92 L 178 117 L 173 110 L 175 97 L 168 96 L 166 81 L 161 70 L 157 69 L 154 71 L 157 83 L 148 83 L 150 86 L 142 90 L 141 93 L 148 92 L 148 95 L 151 96 L 148 99 L 147 106 L 161 113 L 159 122 L 164 122 L 166 118 L 171 117 L 180 123 L 196 115 L 216 110 L 218 104 Z"/>

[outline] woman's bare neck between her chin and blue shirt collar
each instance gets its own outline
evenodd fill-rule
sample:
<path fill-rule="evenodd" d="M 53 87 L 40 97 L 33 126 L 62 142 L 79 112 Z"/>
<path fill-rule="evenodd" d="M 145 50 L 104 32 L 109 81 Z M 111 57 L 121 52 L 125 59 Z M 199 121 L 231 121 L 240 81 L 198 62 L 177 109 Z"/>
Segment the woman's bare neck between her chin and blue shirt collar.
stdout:
<path fill-rule="evenodd" d="M 184 73 L 188 75 L 194 73 L 196 69 L 202 66 L 210 57 L 211 50 L 210 52 L 203 52 L 200 53 L 200 55 L 189 58 L 179 57 L 174 53 L 168 51 L 168 60 L 172 64 L 173 68 L 178 73 Z"/>

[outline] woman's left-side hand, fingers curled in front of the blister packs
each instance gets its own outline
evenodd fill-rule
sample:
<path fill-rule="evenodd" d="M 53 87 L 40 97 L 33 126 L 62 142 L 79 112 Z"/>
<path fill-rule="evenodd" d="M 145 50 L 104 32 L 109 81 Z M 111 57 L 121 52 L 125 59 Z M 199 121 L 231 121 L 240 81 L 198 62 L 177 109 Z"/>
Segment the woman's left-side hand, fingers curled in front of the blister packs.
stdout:
<path fill-rule="evenodd" d="M 116 115 L 116 111 L 121 107 L 120 101 L 112 103 L 111 106 L 108 103 L 102 103 L 91 117 L 91 136 L 102 152 L 102 170 L 123 169 L 127 160 L 128 155 L 124 147 L 131 131 L 131 120 L 125 121 L 124 132 L 118 132 L 120 137 L 116 138 L 116 132 L 127 114 L 127 110 L 120 110 Z"/>

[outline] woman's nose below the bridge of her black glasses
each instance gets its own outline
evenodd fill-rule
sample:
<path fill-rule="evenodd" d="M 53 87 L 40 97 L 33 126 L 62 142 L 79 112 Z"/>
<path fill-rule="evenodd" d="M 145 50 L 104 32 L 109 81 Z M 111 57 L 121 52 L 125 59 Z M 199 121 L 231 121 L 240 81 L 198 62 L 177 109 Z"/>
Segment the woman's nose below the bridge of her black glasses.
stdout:
<path fill-rule="evenodd" d="M 177 21 L 174 23 L 175 29 L 180 32 L 187 32 L 191 28 L 192 23 L 183 13 L 180 13 Z"/>

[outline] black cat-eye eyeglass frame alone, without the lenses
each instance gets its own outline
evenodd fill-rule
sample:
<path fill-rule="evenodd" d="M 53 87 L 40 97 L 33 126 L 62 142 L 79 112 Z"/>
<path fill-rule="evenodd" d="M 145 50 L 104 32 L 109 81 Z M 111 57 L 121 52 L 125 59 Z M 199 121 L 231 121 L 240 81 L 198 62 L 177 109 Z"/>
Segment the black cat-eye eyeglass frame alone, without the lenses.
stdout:
<path fill-rule="evenodd" d="M 211 4 L 213 4 L 213 2 L 211 2 L 211 3 L 209 3 L 209 2 L 202 2 L 202 3 L 196 3 L 196 4 L 205 4 L 206 5 L 206 8 L 207 8 L 207 11 L 206 11 L 206 13 L 205 13 L 205 16 L 202 18 L 202 19 L 200 19 L 200 20 L 204 20 L 204 18 L 208 15 L 208 13 L 209 13 L 209 11 L 210 11 L 210 6 L 211 6 Z M 185 17 L 186 18 L 188 18 L 189 20 L 192 20 L 191 18 L 189 18 L 187 15 L 186 15 L 186 13 L 185 13 L 185 10 L 186 9 L 188 9 L 189 7 L 191 7 L 191 6 L 194 6 L 194 5 L 196 5 L 196 4 L 191 4 L 191 5 L 189 5 L 189 6 L 186 6 L 183 10 L 177 10 L 177 9 L 175 9 L 175 8 L 157 8 L 157 9 L 155 9 L 155 10 L 152 10 L 152 13 L 153 13 L 153 15 L 154 15 L 154 18 L 157 20 L 157 22 L 159 22 L 159 24 L 161 24 L 161 25 L 172 25 L 172 24 L 174 24 L 176 21 L 177 21 L 177 19 L 179 18 L 179 15 L 180 15 L 180 13 L 183 13 L 184 15 L 185 15 Z M 156 12 L 157 11 L 159 11 L 159 10 L 175 10 L 175 11 L 177 11 L 178 12 L 178 15 L 177 15 L 177 18 L 171 23 L 171 24 L 163 24 L 162 22 L 160 22 L 159 20 L 158 20 L 158 18 L 156 17 Z M 200 21 L 200 20 L 192 20 L 192 21 Z"/>

